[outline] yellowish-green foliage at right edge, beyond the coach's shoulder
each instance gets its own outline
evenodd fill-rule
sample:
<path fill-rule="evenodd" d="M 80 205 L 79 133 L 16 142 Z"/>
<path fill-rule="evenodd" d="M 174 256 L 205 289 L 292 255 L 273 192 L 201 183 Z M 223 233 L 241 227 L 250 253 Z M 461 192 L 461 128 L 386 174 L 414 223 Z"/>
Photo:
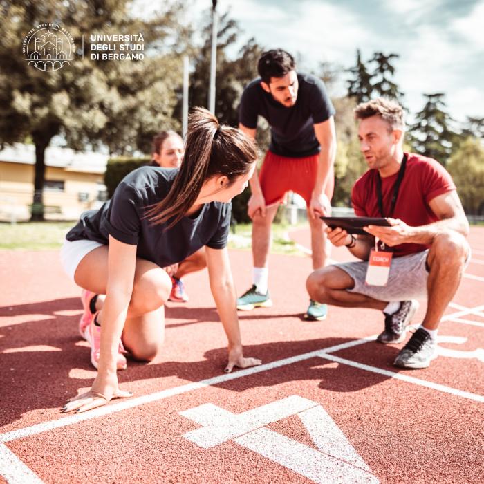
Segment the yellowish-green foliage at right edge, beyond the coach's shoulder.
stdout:
<path fill-rule="evenodd" d="M 484 212 L 484 147 L 476 138 L 460 143 L 448 167 L 466 213 Z"/>

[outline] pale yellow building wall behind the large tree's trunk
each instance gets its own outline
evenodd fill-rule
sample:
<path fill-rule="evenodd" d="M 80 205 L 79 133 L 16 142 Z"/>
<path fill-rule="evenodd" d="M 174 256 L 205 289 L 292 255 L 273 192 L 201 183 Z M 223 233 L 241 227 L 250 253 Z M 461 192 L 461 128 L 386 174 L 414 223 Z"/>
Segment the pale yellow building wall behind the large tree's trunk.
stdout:
<path fill-rule="evenodd" d="M 60 214 L 46 214 L 46 218 L 78 218 L 81 212 L 93 208 L 97 203 L 98 183 L 103 183 L 102 174 L 68 171 L 57 167 L 46 167 L 46 180 L 64 181 L 64 192 L 44 189 L 44 205 L 60 207 Z M 18 219 L 29 218 L 29 207 L 34 190 L 34 166 L 23 163 L 0 161 L 0 220 L 10 220 L 12 212 Z M 80 202 L 79 193 L 89 194 L 86 202 Z"/>

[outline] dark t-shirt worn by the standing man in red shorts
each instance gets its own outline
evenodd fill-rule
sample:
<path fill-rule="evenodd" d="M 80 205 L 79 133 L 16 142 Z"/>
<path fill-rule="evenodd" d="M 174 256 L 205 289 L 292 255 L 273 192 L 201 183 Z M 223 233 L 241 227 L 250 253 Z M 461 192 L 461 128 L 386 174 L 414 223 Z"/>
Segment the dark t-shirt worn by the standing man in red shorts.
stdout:
<path fill-rule="evenodd" d="M 299 90 L 294 106 L 287 108 L 262 89 L 261 78 L 250 82 L 242 94 L 239 121 L 250 129 L 257 127 L 257 116 L 270 124 L 270 151 L 280 156 L 303 158 L 319 153 L 321 147 L 314 124 L 335 114 L 324 82 L 314 75 L 297 74 Z"/>

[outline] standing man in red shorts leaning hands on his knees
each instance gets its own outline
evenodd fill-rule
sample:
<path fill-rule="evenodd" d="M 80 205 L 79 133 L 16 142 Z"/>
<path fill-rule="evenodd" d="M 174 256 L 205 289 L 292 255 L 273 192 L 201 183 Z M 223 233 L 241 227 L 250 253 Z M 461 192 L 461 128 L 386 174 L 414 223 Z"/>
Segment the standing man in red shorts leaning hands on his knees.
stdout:
<path fill-rule="evenodd" d="M 260 175 L 250 180 L 254 279 L 237 300 L 241 310 L 272 306 L 268 290 L 271 224 L 290 190 L 306 200 L 313 268 L 324 266 L 326 235 L 319 216 L 330 214 L 334 188 L 335 109 L 324 83 L 313 75 L 296 73 L 294 59 L 281 49 L 263 53 L 257 70 L 261 77 L 250 82 L 242 95 L 239 129 L 255 138 L 261 115 L 270 124 L 271 142 Z M 326 312 L 326 304 L 310 300 L 305 317 L 320 321 Z"/>

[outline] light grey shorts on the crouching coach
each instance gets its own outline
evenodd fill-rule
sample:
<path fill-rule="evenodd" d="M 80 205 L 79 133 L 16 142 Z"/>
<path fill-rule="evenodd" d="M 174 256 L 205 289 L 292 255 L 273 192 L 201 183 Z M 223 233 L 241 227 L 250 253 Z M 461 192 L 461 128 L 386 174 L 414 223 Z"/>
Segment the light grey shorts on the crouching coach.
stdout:
<path fill-rule="evenodd" d="M 366 284 L 366 269 L 368 262 L 346 262 L 333 264 L 344 270 L 353 281 L 355 287 L 347 289 L 348 292 L 357 292 L 365 296 L 378 299 L 378 301 L 408 301 L 409 299 L 427 298 L 427 271 L 426 262 L 429 250 L 416 254 L 395 257 L 391 261 L 387 286 L 369 286 Z M 465 261 L 470 261 L 470 252 Z"/>

